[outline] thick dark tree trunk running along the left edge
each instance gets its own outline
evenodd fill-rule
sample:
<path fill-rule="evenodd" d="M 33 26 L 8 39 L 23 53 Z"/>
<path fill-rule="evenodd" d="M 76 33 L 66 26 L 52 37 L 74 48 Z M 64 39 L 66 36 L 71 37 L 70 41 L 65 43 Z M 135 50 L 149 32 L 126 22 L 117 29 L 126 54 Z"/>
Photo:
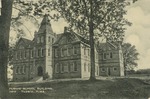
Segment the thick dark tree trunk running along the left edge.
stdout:
<path fill-rule="evenodd" d="M 13 0 L 2 0 L 1 4 L 2 8 L 0 16 L 0 99 L 7 99 L 7 63 Z"/>

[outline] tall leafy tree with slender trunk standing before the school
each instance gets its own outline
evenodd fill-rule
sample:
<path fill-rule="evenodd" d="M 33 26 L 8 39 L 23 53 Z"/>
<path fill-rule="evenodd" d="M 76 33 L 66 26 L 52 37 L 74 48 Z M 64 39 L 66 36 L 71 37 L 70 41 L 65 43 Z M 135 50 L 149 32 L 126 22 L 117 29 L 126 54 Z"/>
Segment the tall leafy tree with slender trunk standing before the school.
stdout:
<path fill-rule="evenodd" d="M 19 1 L 19 0 L 17 0 Z M 131 0 L 132 1 L 132 0 Z M 137 0 L 133 0 L 133 3 Z M 122 41 L 125 25 L 131 25 L 123 15 L 126 14 L 125 7 L 130 5 L 127 0 L 38 0 L 38 2 L 25 3 L 27 11 L 41 16 L 43 11 L 55 14 L 51 19 L 64 18 L 69 23 L 69 29 L 78 31 L 90 41 L 91 47 L 91 76 L 95 79 L 95 39 L 104 36 L 106 39 Z"/>

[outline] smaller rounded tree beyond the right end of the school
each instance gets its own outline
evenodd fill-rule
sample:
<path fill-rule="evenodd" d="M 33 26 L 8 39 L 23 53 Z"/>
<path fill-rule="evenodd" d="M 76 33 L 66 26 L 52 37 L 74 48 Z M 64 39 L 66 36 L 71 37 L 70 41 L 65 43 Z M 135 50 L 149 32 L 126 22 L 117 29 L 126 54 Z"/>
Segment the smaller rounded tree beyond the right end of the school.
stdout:
<path fill-rule="evenodd" d="M 130 43 L 124 43 L 122 45 L 122 49 L 124 59 L 124 72 L 126 75 L 127 71 L 133 70 L 135 67 L 138 66 L 137 60 L 139 60 L 139 53 L 135 46 L 131 45 Z"/>

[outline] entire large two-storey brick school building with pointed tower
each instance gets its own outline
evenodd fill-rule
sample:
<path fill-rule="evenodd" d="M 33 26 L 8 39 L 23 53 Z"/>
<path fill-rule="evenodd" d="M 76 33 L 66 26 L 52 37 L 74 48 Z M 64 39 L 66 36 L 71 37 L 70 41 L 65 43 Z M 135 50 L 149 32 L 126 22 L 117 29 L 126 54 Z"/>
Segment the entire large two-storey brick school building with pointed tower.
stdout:
<path fill-rule="evenodd" d="M 123 76 L 122 51 L 118 44 L 107 42 L 95 48 L 96 76 Z M 20 38 L 12 60 L 13 80 L 29 81 L 48 73 L 50 78 L 90 76 L 89 41 L 77 33 L 55 34 L 45 15 L 34 39 Z"/>

